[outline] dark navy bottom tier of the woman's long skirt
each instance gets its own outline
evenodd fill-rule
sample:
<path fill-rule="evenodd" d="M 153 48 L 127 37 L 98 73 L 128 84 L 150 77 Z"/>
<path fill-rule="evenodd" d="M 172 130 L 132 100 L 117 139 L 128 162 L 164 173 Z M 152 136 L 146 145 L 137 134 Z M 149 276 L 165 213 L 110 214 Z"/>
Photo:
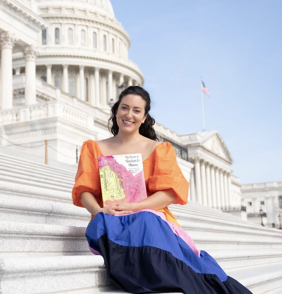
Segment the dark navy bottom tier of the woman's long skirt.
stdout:
<path fill-rule="evenodd" d="M 152 246 L 129 247 L 98 239 L 110 280 L 130 293 L 252 294 L 231 277 L 196 273 L 170 252 Z"/>

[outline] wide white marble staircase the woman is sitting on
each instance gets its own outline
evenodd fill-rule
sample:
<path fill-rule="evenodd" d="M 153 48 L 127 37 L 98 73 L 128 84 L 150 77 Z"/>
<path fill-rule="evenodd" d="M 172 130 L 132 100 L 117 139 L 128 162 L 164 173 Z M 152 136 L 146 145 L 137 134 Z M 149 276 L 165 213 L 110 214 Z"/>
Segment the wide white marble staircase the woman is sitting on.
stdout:
<path fill-rule="evenodd" d="M 1 151 L 1 149 L 0 149 Z M 90 213 L 72 203 L 76 168 L 0 153 L 0 289 L 17 293 L 125 293 L 87 246 Z M 254 294 L 282 293 L 282 232 L 190 201 L 171 205 L 197 248 Z M 1 292 L 0 292 L 1 293 Z"/>

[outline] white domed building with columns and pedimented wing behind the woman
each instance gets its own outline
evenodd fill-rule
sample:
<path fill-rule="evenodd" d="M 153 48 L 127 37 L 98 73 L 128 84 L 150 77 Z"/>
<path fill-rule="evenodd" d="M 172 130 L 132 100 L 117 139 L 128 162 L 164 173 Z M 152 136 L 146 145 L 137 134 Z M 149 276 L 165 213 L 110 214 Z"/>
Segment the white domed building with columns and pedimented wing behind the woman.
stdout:
<path fill-rule="evenodd" d="M 83 141 L 111 136 L 111 99 L 144 83 L 109 0 L 0 0 L 0 46 L 1 145 L 45 162 L 48 154 L 75 165 Z M 246 216 L 218 131 L 179 135 L 157 122 L 154 128 L 177 152 L 189 200 Z"/>

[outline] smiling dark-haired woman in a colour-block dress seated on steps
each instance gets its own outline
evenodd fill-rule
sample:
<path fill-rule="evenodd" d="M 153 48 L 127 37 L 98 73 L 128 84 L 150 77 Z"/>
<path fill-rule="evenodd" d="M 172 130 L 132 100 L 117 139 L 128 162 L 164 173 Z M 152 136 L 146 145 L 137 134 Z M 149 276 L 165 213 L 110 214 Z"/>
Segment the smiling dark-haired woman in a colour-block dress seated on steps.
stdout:
<path fill-rule="evenodd" d="M 91 213 L 85 233 L 90 250 L 103 256 L 110 280 L 130 293 L 250 294 L 197 249 L 168 210 L 171 203 L 187 203 L 189 183 L 172 144 L 156 141 L 149 111 L 149 93 L 126 88 L 111 109 L 114 136 L 81 147 L 72 197 Z M 97 157 L 127 153 L 145 158 L 148 197 L 103 207 Z"/>

